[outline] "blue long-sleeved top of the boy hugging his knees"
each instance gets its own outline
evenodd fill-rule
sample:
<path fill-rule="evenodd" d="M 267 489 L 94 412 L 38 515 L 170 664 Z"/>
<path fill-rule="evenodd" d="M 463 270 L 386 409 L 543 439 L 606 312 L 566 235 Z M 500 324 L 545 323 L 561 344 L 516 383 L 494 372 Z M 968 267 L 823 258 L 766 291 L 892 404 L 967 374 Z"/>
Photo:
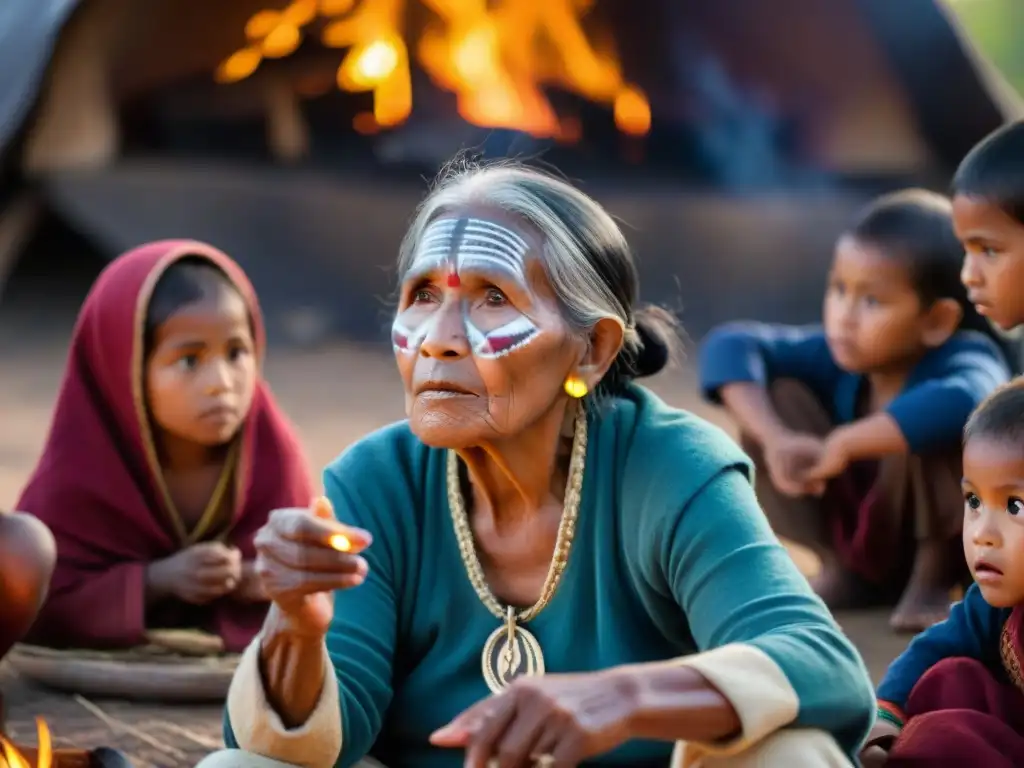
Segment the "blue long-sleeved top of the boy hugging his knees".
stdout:
<path fill-rule="evenodd" d="M 857 418 L 866 377 L 844 371 L 828 351 L 820 326 L 731 323 L 712 331 L 700 345 L 700 389 L 714 402 L 726 384 L 795 379 L 809 387 L 837 424 Z M 886 408 L 910 453 L 958 445 L 971 412 L 1010 368 L 989 337 L 961 331 L 930 350 L 913 368 L 899 395 Z"/>

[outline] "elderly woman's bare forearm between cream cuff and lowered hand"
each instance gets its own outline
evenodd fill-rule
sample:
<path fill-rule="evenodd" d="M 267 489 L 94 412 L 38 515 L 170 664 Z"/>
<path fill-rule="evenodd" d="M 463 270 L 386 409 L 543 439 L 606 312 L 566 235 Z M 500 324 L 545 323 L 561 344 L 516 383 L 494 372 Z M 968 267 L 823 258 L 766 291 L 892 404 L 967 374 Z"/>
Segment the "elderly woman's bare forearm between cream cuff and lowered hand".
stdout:
<path fill-rule="evenodd" d="M 740 733 L 735 708 L 696 670 L 653 663 L 623 671 L 633 691 L 631 737 L 709 743 Z"/>

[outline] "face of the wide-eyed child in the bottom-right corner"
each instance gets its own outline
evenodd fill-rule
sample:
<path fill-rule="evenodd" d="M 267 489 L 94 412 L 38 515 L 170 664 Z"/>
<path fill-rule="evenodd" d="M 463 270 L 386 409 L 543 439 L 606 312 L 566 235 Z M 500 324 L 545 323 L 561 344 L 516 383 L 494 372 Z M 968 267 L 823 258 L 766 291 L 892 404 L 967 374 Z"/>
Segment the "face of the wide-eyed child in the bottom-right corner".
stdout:
<path fill-rule="evenodd" d="M 964 554 L 989 605 L 1024 601 L 1024 447 L 983 435 L 964 446 Z"/>

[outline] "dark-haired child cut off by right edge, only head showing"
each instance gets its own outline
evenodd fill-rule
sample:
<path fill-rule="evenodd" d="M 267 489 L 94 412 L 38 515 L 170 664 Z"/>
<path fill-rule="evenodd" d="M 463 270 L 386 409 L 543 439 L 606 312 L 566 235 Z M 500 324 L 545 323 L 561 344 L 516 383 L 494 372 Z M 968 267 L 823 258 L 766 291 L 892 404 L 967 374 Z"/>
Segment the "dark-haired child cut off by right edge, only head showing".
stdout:
<path fill-rule="evenodd" d="M 961 163 L 953 222 L 971 301 L 1004 330 L 1024 325 L 1024 123 L 995 131 Z"/>

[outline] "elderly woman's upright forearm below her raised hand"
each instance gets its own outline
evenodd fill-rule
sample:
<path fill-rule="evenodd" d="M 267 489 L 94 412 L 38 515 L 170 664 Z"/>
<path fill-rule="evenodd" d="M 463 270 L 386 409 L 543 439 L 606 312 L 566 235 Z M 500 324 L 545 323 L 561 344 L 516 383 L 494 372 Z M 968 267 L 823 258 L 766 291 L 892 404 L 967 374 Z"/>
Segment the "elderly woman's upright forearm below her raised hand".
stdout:
<path fill-rule="evenodd" d="M 292 632 L 270 606 L 260 642 L 260 673 L 267 703 L 286 728 L 305 723 L 325 685 L 324 638 Z"/>

